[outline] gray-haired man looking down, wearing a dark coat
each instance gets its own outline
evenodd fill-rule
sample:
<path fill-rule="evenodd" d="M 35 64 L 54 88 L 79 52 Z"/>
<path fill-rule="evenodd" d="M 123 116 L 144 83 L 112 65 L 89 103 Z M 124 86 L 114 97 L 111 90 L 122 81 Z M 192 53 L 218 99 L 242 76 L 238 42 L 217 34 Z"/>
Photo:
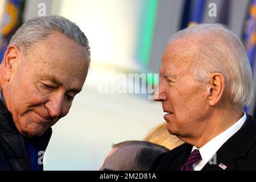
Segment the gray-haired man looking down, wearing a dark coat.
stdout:
<path fill-rule="evenodd" d="M 51 126 L 68 114 L 89 63 L 86 36 L 62 16 L 16 31 L 0 65 L 0 170 L 43 169 Z"/>

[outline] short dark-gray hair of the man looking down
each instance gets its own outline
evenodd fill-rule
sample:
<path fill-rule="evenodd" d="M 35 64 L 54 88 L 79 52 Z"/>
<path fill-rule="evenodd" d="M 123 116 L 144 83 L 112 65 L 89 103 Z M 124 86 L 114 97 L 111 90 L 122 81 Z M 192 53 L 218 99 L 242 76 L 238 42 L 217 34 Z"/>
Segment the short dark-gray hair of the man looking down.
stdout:
<path fill-rule="evenodd" d="M 59 15 L 41 16 L 28 20 L 16 31 L 10 44 L 18 46 L 26 53 L 32 44 L 46 39 L 52 31 L 60 31 L 80 46 L 85 47 L 90 60 L 90 47 L 84 32 L 75 23 Z"/>

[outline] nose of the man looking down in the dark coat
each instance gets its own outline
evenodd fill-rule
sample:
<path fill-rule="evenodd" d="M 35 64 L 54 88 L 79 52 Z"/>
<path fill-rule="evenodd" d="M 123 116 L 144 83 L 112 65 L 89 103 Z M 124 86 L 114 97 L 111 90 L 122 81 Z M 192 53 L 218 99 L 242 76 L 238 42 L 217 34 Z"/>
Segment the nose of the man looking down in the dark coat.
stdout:
<path fill-rule="evenodd" d="M 60 116 L 61 109 L 63 107 L 63 96 L 52 96 L 44 106 L 48 110 L 48 113 L 51 117 L 56 118 Z"/>

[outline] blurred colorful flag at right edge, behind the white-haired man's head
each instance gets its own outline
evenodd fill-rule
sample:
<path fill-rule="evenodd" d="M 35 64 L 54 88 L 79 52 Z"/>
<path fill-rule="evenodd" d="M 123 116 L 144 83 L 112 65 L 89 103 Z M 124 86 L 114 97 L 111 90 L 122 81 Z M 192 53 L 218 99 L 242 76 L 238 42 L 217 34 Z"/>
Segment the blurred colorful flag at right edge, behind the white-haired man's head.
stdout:
<path fill-rule="evenodd" d="M 243 39 L 245 40 L 245 48 L 248 59 L 250 61 L 251 72 L 254 76 L 254 60 L 255 60 L 255 51 L 256 51 L 256 0 L 251 0 L 248 6 L 248 15 L 245 20 L 245 30 Z M 253 82 L 255 83 L 255 79 Z M 255 94 L 254 94 L 255 95 Z M 254 96 L 255 97 L 255 96 Z M 253 108 L 252 108 L 253 107 Z M 254 114 L 255 117 L 255 101 L 249 106 L 249 108 L 245 107 L 245 111 L 249 110 L 251 114 Z"/>

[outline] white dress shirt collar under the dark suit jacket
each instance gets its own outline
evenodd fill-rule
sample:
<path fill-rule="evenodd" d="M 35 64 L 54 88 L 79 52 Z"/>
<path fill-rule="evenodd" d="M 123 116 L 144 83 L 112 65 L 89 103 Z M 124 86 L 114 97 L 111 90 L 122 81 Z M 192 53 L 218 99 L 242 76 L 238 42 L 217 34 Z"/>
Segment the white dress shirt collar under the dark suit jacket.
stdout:
<path fill-rule="evenodd" d="M 193 146 L 192 151 L 195 149 L 198 149 L 202 157 L 202 159 L 199 160 L 199 162 L 193 165 L 193 170 L 200 171 L 205 166 L 205 164 L 207 164 L 208 161 L 213 158 L 214 154 L 216 154 L 216 152 L 222 146 L 222 144 L 224 144 L 226 140 L 228 140 L 239 129 L 241 129 L 245 121 L 246 121 L 246 114 L 245 112 L 243 112 L 243 117 L 241 119 L 239 119 L 236 123 L 234 123 L 234 125 L 230 126 L 224 132 L 222 132 L 221 134 L 217 135 L 216 137 L 211 139 L 209 142 L 204 144 L 203 147 L 197 148 Z"/>

